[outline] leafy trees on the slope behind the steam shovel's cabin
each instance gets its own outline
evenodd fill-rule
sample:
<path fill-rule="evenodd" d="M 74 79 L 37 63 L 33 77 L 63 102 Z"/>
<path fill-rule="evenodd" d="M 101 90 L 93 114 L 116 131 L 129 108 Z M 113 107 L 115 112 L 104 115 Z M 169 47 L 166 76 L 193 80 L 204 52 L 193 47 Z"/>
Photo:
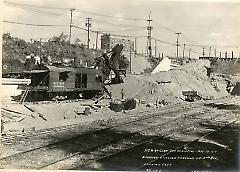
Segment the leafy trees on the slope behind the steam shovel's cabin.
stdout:
<path fill-rule="evenodd" d="M 80 42 L 80 39 L 76 39 L 74 44 L 70 44 L 68 36 L 64 33 L 53 36 L 44 42 L 40 42 L 40 40 L 26 42 L 23 39 L 12 37 L 10 33 L 5 33 L 3 34 L 3 58 L 25 61 L 27 55 L 34 54 L 40 56 L 45 64 L 49 63 L 50 57 L 52 62 L 62 63 L 78 59 L 83 64 L 93 65 L 95 55 Z"/>

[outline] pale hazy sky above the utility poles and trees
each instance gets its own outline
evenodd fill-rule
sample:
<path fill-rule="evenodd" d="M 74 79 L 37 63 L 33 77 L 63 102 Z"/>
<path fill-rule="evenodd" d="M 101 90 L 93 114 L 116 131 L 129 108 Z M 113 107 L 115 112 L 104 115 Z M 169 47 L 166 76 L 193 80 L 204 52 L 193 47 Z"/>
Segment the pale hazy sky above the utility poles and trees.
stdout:
<path fill-rule="evenodd" d="M 211 47 L 212 56 L 215 49 L 217 55 L 225 51 L 240 55 L 240 0 L 4 0 L 2 18 L 5 21 L 63 26 L 36 27 L 4 22 L 3 33 L 9 32 L 27 41 L 31 38 L 47 40 L 61 32 L 69 35 L 71 8 L 75 9 L 73 25 L 86 28 L 86 17 L 91 17 L 91 29 L 94 31 L 128 35 L 131 37 L 125 39 L 132 41 L 136 37 L 140 53 L 146 50 L 146 27 L 150 14 L 152 37 L 161 40 L 156 43 L 157 54 L 175 56 L 175 33 L 181 32 L 179 54 L 182 54 L 185 44 L 185 54 L 191 48 L 192 56 L 199 56 L 203 47 L 206 54 L 209 54 Z M 86 44 L 87 32 L 73 28 L 72 41 L 75 38 Z M 90 41 L 90 46 L 95 46 L 96 33 L 90 33 Z M 155 54 L 154 40 L 152 46 Z"/>

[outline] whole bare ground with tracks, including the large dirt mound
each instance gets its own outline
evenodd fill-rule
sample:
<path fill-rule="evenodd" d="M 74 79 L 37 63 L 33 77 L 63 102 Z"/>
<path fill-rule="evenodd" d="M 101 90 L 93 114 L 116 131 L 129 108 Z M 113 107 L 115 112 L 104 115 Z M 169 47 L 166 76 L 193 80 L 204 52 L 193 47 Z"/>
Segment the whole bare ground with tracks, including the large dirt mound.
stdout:
<path fill-rule="evenodd" d="M 226 91 L 222 78 L 212 82 L 206 75 L 209 65 L 209 61 L 195 61 L 168 72 L 130 75 L 123 84 L 107 87 L 115 100 L 121 100 L 122 94 L 137 100 L 136 109 L 122 112 L 109 109 L 110 99 L 97 104 L 81 99 L 19 104 L 10 99 L 18 92 L 12 87 L 2 98 L 0 168 L 176 169 L 188 166 L 188 161 L 163 159 L 166 151 L 190 149 L 195 151 L 191 156 L 199 168 L 236 170 L 240 97 Z M 236 76 L 234 80 L 239 82 Z M 196 90 L 205 99 L 186 102 L 184 90 Z M 209 97 L 214 99 L 207 100 Z M 160 103 L 163 99 L 166 104 Z M 84 114 L 86 107 L 90 114 Z M 160 154 L 151 152 L 153 148 Z M 212 149 L 215 159 L 209 152 L 204 156 L 196 153 Z M 189 156 L 179 153 L 178 157 Z"/>

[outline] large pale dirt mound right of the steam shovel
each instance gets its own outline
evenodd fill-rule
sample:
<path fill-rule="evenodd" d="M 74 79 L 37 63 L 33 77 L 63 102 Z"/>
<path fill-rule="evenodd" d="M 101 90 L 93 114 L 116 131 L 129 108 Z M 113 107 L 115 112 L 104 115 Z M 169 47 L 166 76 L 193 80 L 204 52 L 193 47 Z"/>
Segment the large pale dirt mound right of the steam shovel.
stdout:
<path fill-rule="evenodd" d="M 213 85 L 207 76 L 210 62 L 193 61 L 167 72 L 153 75 L 128 76 L 125 83 L 109 87 L 113 98 L 120 99 L 123 90 L 124 98 L 134 97 L 154 103 L 166 99 L 174 102 L 183 99 L 182 91 L 195 90 L 203 97 L 214 98 L 228 95 L 225 83 Z"/>

